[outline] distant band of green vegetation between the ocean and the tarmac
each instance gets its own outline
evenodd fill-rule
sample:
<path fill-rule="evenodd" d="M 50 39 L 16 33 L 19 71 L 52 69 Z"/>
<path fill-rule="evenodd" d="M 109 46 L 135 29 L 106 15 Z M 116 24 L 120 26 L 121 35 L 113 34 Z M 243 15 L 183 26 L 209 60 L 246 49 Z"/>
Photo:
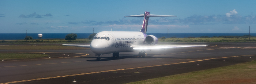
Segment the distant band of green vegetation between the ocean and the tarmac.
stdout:
<path fill-rule="evenodd" d="M 95 34 L 95 33 L 94 33 Z M 27 43 L 91 43 L 91 39 L 94 37 L 91 34 L 91 38 L 86 39 L 76 39 L 76 40 L 65 40 L 65 39 L 31 39 L 31 40 L 0 40 L 1 43 L 7 44 L 27 44 Z M 177 38 L 170 37 L 169 39 L 165 37 L 158 38 L 159 42 L 256 42 L 256 37 L 249 35 L 244 36 L 219 36 L 219 37 L 187 37 L 187 38 Z"/>

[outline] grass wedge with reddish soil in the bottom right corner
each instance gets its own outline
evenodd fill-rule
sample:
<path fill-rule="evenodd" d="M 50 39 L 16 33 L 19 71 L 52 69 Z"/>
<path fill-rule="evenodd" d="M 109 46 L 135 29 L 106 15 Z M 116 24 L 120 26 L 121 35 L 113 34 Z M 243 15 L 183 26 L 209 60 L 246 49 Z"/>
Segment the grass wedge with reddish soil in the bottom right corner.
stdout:
<path fill-rule="evenodd" d="M 128 84 L 255 84 L 256 61 Z"/>

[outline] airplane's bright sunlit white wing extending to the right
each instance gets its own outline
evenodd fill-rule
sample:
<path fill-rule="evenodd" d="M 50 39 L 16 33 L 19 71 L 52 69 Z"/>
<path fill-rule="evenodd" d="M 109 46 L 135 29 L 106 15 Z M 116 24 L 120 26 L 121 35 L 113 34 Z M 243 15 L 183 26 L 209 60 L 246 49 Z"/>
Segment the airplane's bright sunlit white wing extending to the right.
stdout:
<path fill-rule="evenodd" d="M 165 49 L 165 48 L 176 48 L 176 47 L 199 47 L 207 45 L 132 45 L 134 50 L 143 50 L 143 49 Z"/>

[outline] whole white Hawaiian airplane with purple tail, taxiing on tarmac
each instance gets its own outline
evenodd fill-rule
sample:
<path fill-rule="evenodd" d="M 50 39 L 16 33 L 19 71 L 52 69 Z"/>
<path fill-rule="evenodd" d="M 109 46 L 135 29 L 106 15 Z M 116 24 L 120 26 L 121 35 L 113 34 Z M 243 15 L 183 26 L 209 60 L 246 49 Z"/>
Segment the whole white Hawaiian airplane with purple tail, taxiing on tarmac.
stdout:
<path fill-rule="evenodd" d="M 163 49 L 173 47 L 195 47 L 206 45 L 156 45 L 157 37 L 147 35 L 147 25 L 149 17 L 176 17 L 172 15 L 150 15 L 150 12 L 145 12 L 142 15 L 131 15 L 124 17 L 144 17 L 142 28 L 140 31 L 102 31 L 97 33 L 90 45 L 71 45 L 65 46 L 90 47 L 95 53 L 97 61 L 101 60 L 102 54 L 113 53 L 113 57 L 119 57 L 120 52 L 140 51 L 139 57 L 145 57 L 146 49 Z"/>

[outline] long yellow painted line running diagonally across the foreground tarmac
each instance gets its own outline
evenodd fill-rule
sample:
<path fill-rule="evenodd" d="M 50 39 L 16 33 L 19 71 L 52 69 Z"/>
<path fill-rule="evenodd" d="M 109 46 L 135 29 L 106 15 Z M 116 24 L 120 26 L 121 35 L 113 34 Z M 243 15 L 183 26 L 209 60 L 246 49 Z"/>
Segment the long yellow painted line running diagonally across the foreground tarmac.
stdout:
<path fill-rule="evenodd" d="M 256 56 L 256 55 L 245 55 L 245 56 Z M 243 57 L 243 56 L 231 56 L 231 57 Z M 231 57 L 220 57 L 220 58 L 231 58 Z M 112 72 L 112 71 L 117 71 L 117 70 L 128 70 L 128 69 L 148 68 L 148 67 L 164 66 L 164 65 L 174 65 L 174 64 L 190 63 L 190 62 L 205 61 L 205 60 L 212 60 L 212 59 L 220 59 L 220 58 L 210 58 L 210 59 L 204 59 L 204 60 L 196 60 L 196 61 L 188 61 L 188 62 L 179 62 L 179 63 L 172 63 L 172 64 L 153 65 L 153 66 L 142 66 L 142 67 L 136 67 L 136 68 L 116 69 L 116 70 L 105 70 L 105 71 L 99 71 L 99 72 L 80 73 L 80 74 L 74 74 L 74 75 L 65 75 L 65 76 L 56 76 L 56 77 L 46 77 L 46 78 L 39 78 L 39 79 L 31 79 L 31 80 L 12 81 L 12 82 L 1 83 L 1 84 L 19 83 L 19 82 L 33 81 L 33 80 L 43 80 L 43 79 L 53 79 L 53 78 L 68 77 L 68 76 L 87 75 L 87 74 L 102 73 L 102 72 Z"/>

